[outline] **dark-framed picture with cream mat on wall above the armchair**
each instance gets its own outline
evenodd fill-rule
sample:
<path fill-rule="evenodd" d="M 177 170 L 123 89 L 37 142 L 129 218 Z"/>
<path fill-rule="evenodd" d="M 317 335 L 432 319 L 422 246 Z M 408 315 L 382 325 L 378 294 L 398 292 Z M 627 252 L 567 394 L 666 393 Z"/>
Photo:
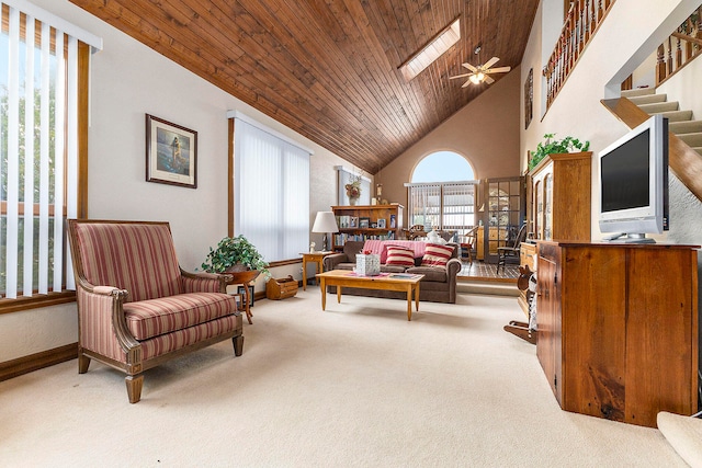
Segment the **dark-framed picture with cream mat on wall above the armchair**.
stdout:
<path fill-rule="evenodd" d="M 197 132 L 146 114 L 146 181 L 197 189 Z"/>

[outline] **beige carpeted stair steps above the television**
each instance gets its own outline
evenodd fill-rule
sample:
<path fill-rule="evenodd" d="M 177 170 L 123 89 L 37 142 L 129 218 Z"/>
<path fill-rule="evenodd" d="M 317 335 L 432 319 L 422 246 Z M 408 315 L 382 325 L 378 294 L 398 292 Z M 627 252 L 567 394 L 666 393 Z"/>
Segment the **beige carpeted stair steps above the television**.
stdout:
<path fill-rule="evenodd" d="M 622 96 L 648 115 L 668 117 L 668 129 L 702 156 L 702 121 L 693 121 L 692 111 L 680 111 L 677 101 L 668 101 L 667 94 L 656 94 L 653 88 L 622 91 Z"/>

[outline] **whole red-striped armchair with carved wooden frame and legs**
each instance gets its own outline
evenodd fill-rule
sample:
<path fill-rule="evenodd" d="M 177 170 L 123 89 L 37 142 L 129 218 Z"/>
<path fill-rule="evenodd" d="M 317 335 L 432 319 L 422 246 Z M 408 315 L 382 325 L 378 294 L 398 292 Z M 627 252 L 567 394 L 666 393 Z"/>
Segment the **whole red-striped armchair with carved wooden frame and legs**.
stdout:
<path fill-rule="evenodd" d="M 131 403 L 144 370 L 231 339 L 244 350 L 226 275 L 182 271 L 168 222 L 69 219 L 78 300 L 78 372 L 94 358 L 126 373 Z"/>

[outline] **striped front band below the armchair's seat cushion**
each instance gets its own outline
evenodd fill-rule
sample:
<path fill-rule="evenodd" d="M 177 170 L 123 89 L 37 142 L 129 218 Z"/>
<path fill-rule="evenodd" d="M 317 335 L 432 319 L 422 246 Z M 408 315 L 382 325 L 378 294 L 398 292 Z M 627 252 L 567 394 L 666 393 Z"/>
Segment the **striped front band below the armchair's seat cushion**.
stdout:
<path fill-rule="evenodd" d="M 217 320 L 211 320 L 195 327 L 190 327 L 173 333 L 161 334 L 151 340 L 141 342 L 141 358 L 144 361 L 168 354 L 208 338 L 236 330 L 237 318 L 240 316 L 227 316 Z M 240 319 L 239 319 L 240 320 Z"/>

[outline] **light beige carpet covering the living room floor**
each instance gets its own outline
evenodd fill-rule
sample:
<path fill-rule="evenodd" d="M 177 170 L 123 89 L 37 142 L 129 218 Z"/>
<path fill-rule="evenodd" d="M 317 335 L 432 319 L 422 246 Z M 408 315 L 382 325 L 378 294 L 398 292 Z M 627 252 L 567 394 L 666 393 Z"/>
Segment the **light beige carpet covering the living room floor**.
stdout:
<path fill-rule="evenodd" d="M 421 304 L 309 287 L 259 300 L 230 342 L 146 373 L 143 399 L 92 363 L 0 383 L 8 467 L 671 467 L 654 429 L 564 412 L 513 297 Z"/>

